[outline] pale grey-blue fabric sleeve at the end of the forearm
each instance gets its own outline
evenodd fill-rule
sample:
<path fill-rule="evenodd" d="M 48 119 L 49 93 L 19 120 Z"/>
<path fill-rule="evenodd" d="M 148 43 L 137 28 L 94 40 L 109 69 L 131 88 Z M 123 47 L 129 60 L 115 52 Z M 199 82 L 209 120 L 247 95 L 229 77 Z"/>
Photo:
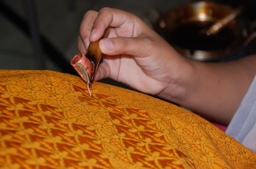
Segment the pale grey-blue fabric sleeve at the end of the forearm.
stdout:
<path fill-rule="evenodd" d="M 256 76 L 226 133 L 256 153 Z"/>

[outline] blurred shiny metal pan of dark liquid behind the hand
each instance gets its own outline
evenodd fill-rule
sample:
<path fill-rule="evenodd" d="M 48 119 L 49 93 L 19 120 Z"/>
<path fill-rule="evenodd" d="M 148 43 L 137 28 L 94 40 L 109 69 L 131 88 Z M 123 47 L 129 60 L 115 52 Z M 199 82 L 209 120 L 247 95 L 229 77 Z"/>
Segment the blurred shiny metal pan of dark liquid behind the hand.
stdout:
<path fill-rule="evenodd" d="M 184 57 L 212 61 L 228 57 L 255 38 L 254 24 L 243 13 L 215 35 L 200 34 L 234 10 L 224 4 L 197 2 L 177 6 L 164 13 L 152 10 L 149 22 Z"/>

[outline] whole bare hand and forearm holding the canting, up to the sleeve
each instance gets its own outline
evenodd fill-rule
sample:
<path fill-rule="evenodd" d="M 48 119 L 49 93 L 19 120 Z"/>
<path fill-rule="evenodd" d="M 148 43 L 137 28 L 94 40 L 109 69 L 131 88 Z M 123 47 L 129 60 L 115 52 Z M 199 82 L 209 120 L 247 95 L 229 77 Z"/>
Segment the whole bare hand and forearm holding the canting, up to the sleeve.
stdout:
<path fill-rule="evenodd" d="M 78 37 L 80 52 L 86 53 L 89 40 L 100 39 L 107 27 L 108 38 L 99 42 L 104 55 L 95 80 L 110 77 L 224 124 L 255 75 L 255 56 L 218 64 L 191 61 L 139 17 L 110 8 L 84 15 Z"/>

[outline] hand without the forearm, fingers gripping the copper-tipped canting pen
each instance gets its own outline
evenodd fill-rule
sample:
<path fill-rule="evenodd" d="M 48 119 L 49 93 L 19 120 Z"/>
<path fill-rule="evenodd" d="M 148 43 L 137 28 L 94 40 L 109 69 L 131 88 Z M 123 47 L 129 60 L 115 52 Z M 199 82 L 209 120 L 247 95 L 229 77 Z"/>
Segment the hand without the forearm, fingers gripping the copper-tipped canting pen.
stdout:
<path fill-rule="evenodd" d="M 122 10 L 88 11 L 80 26 L 79 51 L 86 53 L 89 41 L 98 40 L 109 26 L 108 38 L 99 42 L 104 55 L 95 80 L 110 77 L 138 91 L 158 95 L 169 83 L 181 79 L 178 76 L 182 76 L 187 60 L 139 17 Z"/>

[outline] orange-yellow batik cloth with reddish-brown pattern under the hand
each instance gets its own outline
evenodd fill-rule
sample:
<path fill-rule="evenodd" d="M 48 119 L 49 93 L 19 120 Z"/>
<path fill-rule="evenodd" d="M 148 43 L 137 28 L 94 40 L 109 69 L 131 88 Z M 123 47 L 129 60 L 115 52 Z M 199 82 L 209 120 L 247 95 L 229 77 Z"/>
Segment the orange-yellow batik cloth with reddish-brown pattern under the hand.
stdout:
<path fill-rule="evenodd" d="M 77 76 L 0 71 L 0 168 L 254 168 L 256 155 L 168 102 Z"/>

